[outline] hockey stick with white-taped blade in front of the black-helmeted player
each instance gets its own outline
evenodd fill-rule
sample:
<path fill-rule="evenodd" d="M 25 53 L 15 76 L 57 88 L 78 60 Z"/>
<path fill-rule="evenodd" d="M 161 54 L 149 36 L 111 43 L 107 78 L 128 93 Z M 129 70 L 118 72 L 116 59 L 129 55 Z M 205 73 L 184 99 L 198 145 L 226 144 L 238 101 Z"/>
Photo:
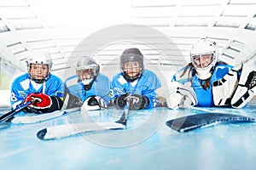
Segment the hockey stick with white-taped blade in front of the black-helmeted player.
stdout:
<path fill-rule="evenodd" d="M 79 133 L 101 132 L 108 130 L 125 129 L 127 122 L 127 115 L 129 111 L 129 101 L 126 101 L 126 105 L 122 116 L 116 122 L 82 122 L 63 124 L 58 126 L 52 126 L 44 128 L 38 131 L 38 139 L 61 139 Z"/>

